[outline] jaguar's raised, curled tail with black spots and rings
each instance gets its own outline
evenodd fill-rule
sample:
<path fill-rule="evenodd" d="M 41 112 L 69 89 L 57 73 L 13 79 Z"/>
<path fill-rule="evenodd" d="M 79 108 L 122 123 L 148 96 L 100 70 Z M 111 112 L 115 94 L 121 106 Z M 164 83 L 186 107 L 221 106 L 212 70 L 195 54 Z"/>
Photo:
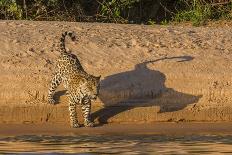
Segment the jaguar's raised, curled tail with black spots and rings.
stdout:
<path fill-rule="evenodd" d="M 72 41 L 76 40 L 76 34 L 73 31 L 65 31 L 64 33 L 62 33 L 61 37 L 60 37 L 60 53 L 61 54 L 65 54 L 67 53 L 66 48 L 65 48 L 65 37 L 69 36 Z"/>

